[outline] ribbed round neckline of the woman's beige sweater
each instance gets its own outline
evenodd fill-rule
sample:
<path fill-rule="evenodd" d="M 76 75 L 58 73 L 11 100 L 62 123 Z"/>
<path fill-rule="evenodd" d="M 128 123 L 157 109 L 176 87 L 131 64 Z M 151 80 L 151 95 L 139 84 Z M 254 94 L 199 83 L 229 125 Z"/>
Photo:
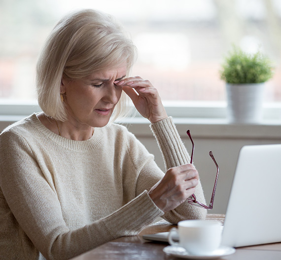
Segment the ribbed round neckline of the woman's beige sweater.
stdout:
<path fill-rule="evenodd" d="M 103 141 L 103 129 L 105 127 L 95 127 L 95 131 L 93 136 L 85 141 L 76 141 L 71 140 L 62 136 L 57 135 L 56 133 L 49 130 L 47 127 L 45 127 L 41 121 L 37 117 L 37 113 L 33 113 L 30 116 L 30 119 L 32 123 L 34 124 L 37 131 L 41 132 L 43 135 L 51 139 L 53 142 L 57 143 L 58 145 L 61 145 L 67 149 L 70 150 L 76 150 L 76 151 L 89 151 L 95 148 L 98 148 L 102 145 Z"/>

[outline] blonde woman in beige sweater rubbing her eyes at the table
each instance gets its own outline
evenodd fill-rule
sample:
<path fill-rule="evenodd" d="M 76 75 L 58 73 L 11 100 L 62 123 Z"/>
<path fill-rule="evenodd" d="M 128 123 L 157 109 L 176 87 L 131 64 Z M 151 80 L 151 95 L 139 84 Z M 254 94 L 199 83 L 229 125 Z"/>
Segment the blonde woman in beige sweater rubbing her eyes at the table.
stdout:
<path fill-rule="evenodd" d="M 70 14 L 52 31 L 36 71 L 43 112 L 0 136 L 2 259 L 70 259 L 160 216 L 205 218 L 186 202 L 193 193 L 205 202 L 203 191 L 157 90 L 127 77 L 134 55 L 122 28 L 94 10 Z M 124 92 L 150 120 L 166 174 L 124 126 L 108 124 L 124 108 Z"/>

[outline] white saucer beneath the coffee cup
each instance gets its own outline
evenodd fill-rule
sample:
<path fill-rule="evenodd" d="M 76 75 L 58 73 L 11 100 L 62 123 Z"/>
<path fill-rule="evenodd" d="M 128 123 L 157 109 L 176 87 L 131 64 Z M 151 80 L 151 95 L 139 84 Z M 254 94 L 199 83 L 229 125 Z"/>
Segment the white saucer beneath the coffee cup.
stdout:
<path fill-rule="evenodd" d="M 231 255 L 235 252 L 232 247 L 221 246 L 217 250 L 213 251 L 210 255 L 191 255 L 183 247 L 178 246 L 168 246 L 163 249 L 163 251 L 173 257 L 184 258 L 184 259 L 218 259 L 220 257 L 225 257 Z"/>

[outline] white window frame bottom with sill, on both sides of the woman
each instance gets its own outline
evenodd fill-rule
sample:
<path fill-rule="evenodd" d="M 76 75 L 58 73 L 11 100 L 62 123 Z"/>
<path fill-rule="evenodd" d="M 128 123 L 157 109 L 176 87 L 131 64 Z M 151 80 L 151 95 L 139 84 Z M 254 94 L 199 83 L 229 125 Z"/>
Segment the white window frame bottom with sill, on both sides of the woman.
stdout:
<path fill-rule="evenodd" d="M 196 102 L 164 102 L 168 115 L 173 116 L 181 137 L 190 129 L 194 138 L 217 139 L 281 139 L 281 104 L 264 107 L 260 124 L 230 124 L 226 119 L 226 104 Z M 33 112 L 40 111 L 36 103 L 0 105 L 0 130 Z M 150 122 L 140 116 L 121 121 L 138 137 L 151 137 Z"/>

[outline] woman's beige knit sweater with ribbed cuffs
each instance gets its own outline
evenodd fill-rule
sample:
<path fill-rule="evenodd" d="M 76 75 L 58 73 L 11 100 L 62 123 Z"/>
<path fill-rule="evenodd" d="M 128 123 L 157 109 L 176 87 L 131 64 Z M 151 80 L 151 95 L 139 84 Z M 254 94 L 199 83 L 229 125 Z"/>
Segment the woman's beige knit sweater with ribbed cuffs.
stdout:
<path fill-rule="evenodd" d="M 167 168 L 189 161 L 171 118 L 151 129 Z M 13 124 L 0 135 L 0 259 L 70 259 L 135 235 L 159 216 L 171 223 L 205 218 L 206 210 L 188 203 L 163 215 L 147 193 L 163 175 L 124 126 L 73 141 L 36 114 Z M 205 202 L 201 185 L 196 196 Z"/>

